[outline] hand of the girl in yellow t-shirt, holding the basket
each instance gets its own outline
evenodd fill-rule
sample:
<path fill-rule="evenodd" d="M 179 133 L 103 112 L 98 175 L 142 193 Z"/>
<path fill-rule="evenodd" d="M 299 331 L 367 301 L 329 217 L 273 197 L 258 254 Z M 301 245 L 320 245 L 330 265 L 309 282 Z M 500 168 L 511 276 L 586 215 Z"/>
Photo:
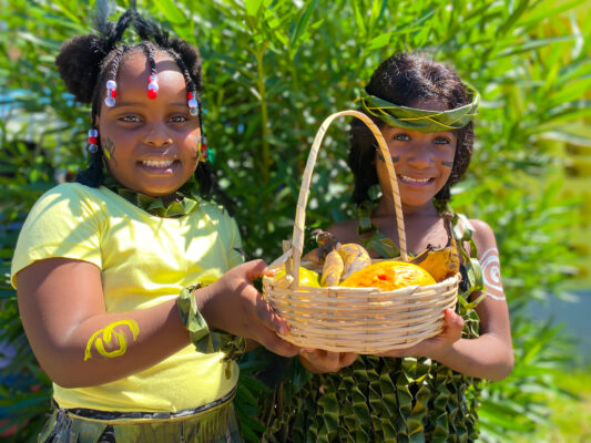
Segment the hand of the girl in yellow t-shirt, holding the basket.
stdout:
<path fill-rule="evenodd" d="M 299 348 L 276 333 L 287 333 L 287 323 L 253 286 L 253 280 L 262 277 L 265 268 L 263 260 L 232 268 L 214 284 L 193 292 L 197 308 L 210 329 L 253 339 L 279 356 L 293 357 Z"/>

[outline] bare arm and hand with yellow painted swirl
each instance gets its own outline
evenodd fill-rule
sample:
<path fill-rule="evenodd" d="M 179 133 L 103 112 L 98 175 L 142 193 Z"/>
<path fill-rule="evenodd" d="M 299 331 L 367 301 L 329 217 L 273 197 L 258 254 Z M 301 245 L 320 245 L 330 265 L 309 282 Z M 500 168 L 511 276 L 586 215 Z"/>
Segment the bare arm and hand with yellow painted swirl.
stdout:
<path fill-rule="evenodd" d="M 285 323 L 252 285 L 262 260 L 227 271 L 194 291 L 211 329 L 252 338 L 274 352 L 296 348 L 275 330 Z M 40 364 L 64 388 L 108 383 L 144 370 L 190 343 L 176 299 L 130 312 L 105 311 L 100 269 L 86 261 L 50 258 L 17 275 L 19 309 Z M 111 337 L 109 337 L 111 336 Z"/>

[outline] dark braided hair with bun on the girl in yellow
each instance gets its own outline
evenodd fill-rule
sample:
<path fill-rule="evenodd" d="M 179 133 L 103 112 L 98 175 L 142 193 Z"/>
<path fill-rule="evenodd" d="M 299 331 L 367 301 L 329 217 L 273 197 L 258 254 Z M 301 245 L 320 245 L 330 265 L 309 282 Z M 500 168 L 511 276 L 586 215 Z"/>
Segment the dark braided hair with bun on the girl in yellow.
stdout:
<path fill-rule="evenodd" d="M 98 2 L 99 4 L 100 2 Z M 155 74 L 155 54 L 164 52 L 177 64 L 185 80 L 187 92 L 195 99 L 202 92 L 201 55 L 197 48 L 188 42 L 170 37 L 169 33 L 152 21 L 143 18 L 135 6 L 126 10 L 116 22 L 109 21 L 109 11 L 99 8 L 95 17 L 98 34 L 78 35 L 61 47 L 55 59 L 60 76 L 70 93 L 81 103 L 91 104 L 91 127 L 95 127 L 108 80 L 114 80 L 120 64 L 131 54 L 143 52 L 149 61 L 152 74 Z M 124 32 L 133 27 L 141 42 L 125 44 Z M 201 105 L 198 121 L 202 124 Z M 203 131 L 202 131 L 203 134 Z M 77 182 L 91 187 L 99 187 L 104 181 L 103 150 L 98 143 L 98 151 L 90 154 L 89 167 L 77 177 Z M 221 189 L 208 162 L 200 162 L 195 171 L 200 193 L 204 197 L 215 194 L 220 203 L 228 210 L 234 206 Z"/>

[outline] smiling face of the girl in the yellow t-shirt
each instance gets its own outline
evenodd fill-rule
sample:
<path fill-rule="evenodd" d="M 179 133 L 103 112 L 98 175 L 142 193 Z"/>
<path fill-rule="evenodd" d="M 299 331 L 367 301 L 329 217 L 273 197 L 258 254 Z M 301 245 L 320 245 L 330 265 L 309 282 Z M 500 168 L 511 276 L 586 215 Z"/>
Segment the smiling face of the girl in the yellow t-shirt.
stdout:
<path fill-rule="evenodd" d="M 179 189 L 198 162 L 200 122 L 187 107 L 176 62 L 156 52 L 157 97 L 150 100 L 149 63 L 141 51 L 122 60 L 113 107 L 101 106 L 99 134 L 111 174 L 123 186 L 164 197 Z"/>

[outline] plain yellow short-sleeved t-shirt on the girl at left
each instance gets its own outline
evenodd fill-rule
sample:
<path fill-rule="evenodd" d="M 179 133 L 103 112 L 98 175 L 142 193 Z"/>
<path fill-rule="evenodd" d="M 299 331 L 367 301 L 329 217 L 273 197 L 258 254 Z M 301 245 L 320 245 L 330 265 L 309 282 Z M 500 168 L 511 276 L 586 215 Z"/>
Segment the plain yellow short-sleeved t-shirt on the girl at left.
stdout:
<path fill-rule="evenodd" d="M 11 281 L 35 260 L 64 257 L 101 269 L 108 312 L 144 309 L 177 297 L 190 285 L 211 284 L 242 262 L 236 223 L 220 206 L 200 200 L 183 217 L 160 218 L 105 187 L 62 184 L 33 206 L 19 235 Z M 235 385 L 222 352 L 203 354 L 191 344 L 130 377 L 91 388 L 53 383 L 61 408 L 103 411 L 169 411 L 197 408 Z M 83 356 L 80 356 L 83 358 Z M 114 363 L 116 364 L 116 363 Z"/>

